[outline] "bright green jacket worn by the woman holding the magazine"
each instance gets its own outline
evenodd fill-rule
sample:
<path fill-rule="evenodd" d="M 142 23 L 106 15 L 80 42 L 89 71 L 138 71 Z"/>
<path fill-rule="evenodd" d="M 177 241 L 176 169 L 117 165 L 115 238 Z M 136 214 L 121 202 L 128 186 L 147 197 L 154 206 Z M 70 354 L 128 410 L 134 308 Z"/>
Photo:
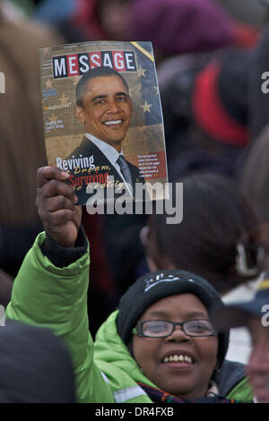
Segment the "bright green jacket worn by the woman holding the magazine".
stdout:
<path fill-rule="evenodd" d="M 65 340 L 79 402 L 152 402 L 136 382 L 156 386 L 143 375 L 119 338 L 117 311 L 100 327 L 95 345 L 92 342 L 87 313 L 89 246 L 78 261 L 57 268 L 40 250 L 44 239 L 45 233 L 41 233 L 22 263 L 6 319 L 46 326 Z M 247 379 L 232 385 L 227 397 L 251 401 Z"/>

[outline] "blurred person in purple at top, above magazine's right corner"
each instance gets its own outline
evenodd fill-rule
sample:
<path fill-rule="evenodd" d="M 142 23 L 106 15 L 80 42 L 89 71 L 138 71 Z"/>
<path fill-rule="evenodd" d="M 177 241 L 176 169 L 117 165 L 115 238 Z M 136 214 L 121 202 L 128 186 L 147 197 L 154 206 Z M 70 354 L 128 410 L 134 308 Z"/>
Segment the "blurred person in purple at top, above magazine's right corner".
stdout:
<path fill-rule="evenodd" d="M 157 63 L 170 56 L 254 45 L 257 31 L 250 27 L 243 36 L 240 25 L 214 0 L 130 2 L 129 37 L 151 40 Z"/>

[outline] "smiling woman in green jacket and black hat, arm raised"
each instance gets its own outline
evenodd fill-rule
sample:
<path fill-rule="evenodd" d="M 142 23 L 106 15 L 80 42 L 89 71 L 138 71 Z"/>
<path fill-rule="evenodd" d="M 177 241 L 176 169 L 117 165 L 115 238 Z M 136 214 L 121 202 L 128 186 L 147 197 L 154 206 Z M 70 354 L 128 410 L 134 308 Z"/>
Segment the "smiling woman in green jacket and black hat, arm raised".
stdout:
<path fill-rule="evenodd" d="M 58 168 L 39 169 L 37 205 L 46 234 L 23 262 L 6 319 L 23 322 L 27 314 L 28 322 L 49 325 L 65 339 L 80 402 L 252 401 L 245 366 L 225 360 L 229 333 L 215 331 L 211 321 L 221 298 L 193 273 L 155 271 L 137 279 L 93 344 L 88 243 L 82 210 L 65 181 Z"/>

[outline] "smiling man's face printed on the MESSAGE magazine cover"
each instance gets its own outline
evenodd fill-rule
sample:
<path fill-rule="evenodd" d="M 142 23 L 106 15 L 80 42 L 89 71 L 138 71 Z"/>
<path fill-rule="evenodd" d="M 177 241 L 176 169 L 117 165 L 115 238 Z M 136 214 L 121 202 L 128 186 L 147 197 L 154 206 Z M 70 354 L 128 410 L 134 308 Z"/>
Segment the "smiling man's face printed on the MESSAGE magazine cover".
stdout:
<path fill-rule="evenodd" d="M 85 86 L 82 107 L 76 116 L 90 133 L 121 150 L 130 124 L 132 104 L 125 83 L 117 75 L 90 79 Z"/>

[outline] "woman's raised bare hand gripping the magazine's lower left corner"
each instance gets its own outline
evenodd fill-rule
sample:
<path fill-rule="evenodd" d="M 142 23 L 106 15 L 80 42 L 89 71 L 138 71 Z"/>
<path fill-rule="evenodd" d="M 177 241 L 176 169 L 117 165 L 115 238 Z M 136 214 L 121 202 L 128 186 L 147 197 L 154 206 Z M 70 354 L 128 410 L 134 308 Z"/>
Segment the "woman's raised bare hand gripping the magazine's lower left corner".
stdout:
<path fill-rule="evenodd" d="M 69 175 L 59 168 L 42 167 L 37 174 L 37 208 L 49 236 L 64 247 L 75 243 L 82 220 L 82 207 L 68 185 Z"/>

